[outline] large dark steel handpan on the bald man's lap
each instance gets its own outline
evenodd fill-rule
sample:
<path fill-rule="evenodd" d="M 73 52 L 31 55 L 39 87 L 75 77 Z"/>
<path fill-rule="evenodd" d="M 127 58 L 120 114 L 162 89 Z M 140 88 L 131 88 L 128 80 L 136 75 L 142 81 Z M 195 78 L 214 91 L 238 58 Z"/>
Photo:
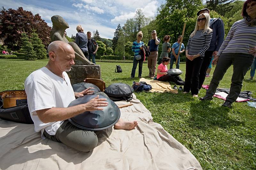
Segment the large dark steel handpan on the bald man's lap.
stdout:
<path fill-rule="evenodd" d="M 83 97 L 79 97 L 71 102 L 68 107 L 87 103 L 94 97 L 97 97 L 97 95 L 85 95 Z M 105 96 L 99 95 L 99 98 L 106 98 L 108 106 L 102 107 L 103 110 L 95 110 L 91 112 L 85 111 L 84 113 L 68 119 L 69 122 L 74 124 L 76 127 L 91 131 L 100 131 L 116 124 L 120 118 L 120 110 L 118 106 Z"/>

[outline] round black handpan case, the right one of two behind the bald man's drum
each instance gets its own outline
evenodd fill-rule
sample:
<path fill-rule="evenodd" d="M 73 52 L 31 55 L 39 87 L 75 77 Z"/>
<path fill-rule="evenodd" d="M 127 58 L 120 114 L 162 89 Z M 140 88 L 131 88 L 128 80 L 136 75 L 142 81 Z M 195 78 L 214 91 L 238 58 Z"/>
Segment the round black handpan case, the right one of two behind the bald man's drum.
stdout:
<path fill-rule="evenodd" d="M 128 102 L 132 100 L 133 89 L 128 84 L 113 83 L 105 89 L 104 93 L 113 101 L 126 100 Z"/>

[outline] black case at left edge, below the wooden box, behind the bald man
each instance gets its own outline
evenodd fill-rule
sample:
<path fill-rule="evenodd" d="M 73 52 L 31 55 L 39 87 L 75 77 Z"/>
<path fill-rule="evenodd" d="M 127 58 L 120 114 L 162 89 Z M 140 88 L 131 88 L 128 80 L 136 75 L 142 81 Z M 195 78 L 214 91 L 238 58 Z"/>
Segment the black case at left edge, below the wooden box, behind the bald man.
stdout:
<path fill-rule="evenodd" d="M 34 124 L 28 110 L 28 105 L 0 109 L 0 118 L 23 124 Z"/>

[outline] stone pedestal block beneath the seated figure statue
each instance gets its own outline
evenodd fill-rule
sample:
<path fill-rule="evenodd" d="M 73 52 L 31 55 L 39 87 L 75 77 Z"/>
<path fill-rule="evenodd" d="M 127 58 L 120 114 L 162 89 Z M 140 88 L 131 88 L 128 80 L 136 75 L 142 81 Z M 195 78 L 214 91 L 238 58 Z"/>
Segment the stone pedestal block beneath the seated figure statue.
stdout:
<path fill-rule="evenodd" d="M 100 65 L 72 66 L 71 70 L 67 73 L 72 85 L 84 82 L 85 78 L 94 78 L 101 80 Z"/>

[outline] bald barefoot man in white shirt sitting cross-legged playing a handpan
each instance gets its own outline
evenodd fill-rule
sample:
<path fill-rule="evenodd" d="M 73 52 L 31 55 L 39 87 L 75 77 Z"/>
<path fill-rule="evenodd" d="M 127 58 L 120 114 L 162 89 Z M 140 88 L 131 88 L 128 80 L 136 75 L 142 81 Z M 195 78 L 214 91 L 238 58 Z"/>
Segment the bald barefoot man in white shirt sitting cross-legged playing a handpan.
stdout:
<path fill-rule="evenodd" d="M 93 91 L 88 88 L 74 93 L 66 73 L 75 64 L 75 52 L 69 44 L 53 41 L 48 46 L 48 52 L 48 64 L 31 73 L 24 84 L 35 131 L 41 131 L 42 138 L 46 137 L 76 150 L 89 152 L 97 146 L 97 134 L 80 129 L 67 119 L 85 111 L 103 110 L 99 107 L 107 106 L 108 103 L 106 99 L 97 96 L 88 103 L 68 107 L 75 97 L 89 95 Z M 137 124 L 137 121 L 125 122 L 119 119 L 115 128 L 132 130 Z"/>

